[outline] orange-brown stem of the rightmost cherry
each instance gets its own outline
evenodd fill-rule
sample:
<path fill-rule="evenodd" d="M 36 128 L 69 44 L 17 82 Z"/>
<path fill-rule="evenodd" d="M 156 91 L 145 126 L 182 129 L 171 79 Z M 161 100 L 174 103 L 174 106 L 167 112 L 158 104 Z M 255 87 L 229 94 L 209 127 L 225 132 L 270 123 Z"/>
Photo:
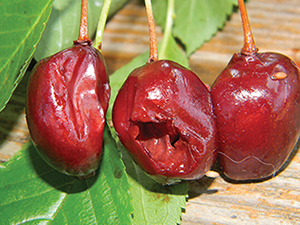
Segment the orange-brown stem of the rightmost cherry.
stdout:
<path fill-rule="evenodd" d="M 244 46 L 241 49 L 241 53 L 244 55 L 252 55 L 257 53 L 258 48 L 255 46 L 244 0 L 238 0 L 238 2 L 244 29 Z"/>

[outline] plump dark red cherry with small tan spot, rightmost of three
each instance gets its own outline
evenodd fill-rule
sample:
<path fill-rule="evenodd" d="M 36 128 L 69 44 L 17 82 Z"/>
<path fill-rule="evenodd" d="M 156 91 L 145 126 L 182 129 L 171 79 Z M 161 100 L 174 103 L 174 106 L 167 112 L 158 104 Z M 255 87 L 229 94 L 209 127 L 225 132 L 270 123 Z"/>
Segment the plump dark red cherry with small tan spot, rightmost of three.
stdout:
<path fill-rule="evenodd" d="M 277 53 L 234 54 L 212 86 L 218 160 L 234 180 L 275 175 L 300 134 L 300 73 Z"/>

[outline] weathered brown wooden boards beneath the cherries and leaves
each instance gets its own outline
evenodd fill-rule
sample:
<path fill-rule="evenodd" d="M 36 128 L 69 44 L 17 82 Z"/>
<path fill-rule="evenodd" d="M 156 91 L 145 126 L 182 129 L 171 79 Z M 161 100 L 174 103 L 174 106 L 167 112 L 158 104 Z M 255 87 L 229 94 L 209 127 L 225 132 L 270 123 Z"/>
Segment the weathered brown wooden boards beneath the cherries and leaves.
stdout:
<path fill-rule="evenodd" d="M 251 0 L 247 9 L 260 51 L 276 51 L 300 62 L 300 1 Z M 157 29 L 158 40 L 162 33 Z M 149 48 L 145 11 L 130 2 L 109 21 L 103 54 L 112 73 Z M 243 43 L 238 13 L 190 58 L 191 68 L 212 84 Z M 26 79 L 0 113 L 0 160 L 8 160 L 29 140 L 24 119 Z M 219 170 L 218 166 L 214 168 Z M 284 170 L 259 183 L 230 183 L 222 176 L 190 182 L 182 224 L 300 224 L 300 151 L 295 147 Z"/>

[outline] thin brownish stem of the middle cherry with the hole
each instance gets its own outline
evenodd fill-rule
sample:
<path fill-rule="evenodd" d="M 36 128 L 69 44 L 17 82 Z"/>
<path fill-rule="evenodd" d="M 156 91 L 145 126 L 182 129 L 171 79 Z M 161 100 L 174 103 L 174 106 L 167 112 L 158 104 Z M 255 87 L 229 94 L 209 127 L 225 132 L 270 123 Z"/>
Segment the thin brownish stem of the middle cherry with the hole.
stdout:
<path fill-rule="evenodd" d="M 152 12 L 151 0 L 145 0 L 148 26 L 149 26 L 149 36 L 150 36 L 150 55 L 148 62 L 153 62 L 158 60 L 158 50 L 157 50 L 157 40 L 155 32 L 155 23 Z"/>

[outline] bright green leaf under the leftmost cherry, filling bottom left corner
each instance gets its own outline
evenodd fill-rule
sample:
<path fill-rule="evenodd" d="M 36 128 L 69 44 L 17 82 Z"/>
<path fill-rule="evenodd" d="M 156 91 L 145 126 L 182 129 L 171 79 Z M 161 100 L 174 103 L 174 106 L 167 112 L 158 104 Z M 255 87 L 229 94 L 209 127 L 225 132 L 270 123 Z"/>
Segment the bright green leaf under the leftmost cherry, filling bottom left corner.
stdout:
<path fill-rule="evenodd" d="M 96 176 L 78 180 L 48 166 L 33 145 L 0 164 L 1 224 L 131 224 L 129 184 L 108 129 Z"/>

